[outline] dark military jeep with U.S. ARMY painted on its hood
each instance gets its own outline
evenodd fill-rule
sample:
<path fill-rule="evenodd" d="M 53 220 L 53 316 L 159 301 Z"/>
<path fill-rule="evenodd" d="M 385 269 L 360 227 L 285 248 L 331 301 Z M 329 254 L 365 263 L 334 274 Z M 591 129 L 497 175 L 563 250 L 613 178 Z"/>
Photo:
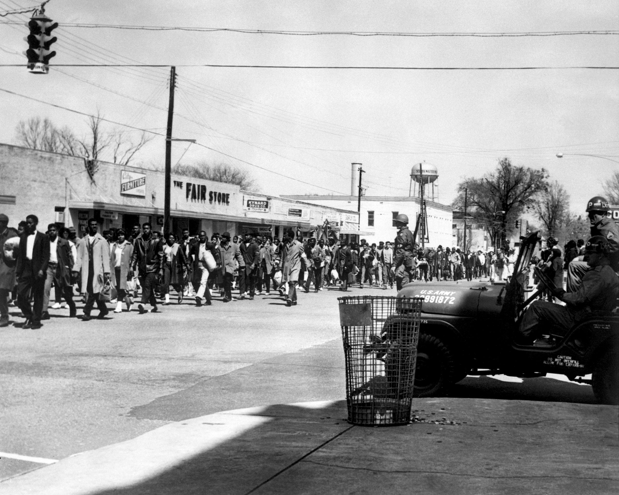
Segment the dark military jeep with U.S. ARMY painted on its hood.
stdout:
<path fill-rule="evenodd" d="M 619 403 L 619 316 L 591 316 L 571 328 L 548 327 L 533 345 L 514 343 L 527 306 L 539 293 L 529 286 L 539 233 L 522 239 L 509 282 L 412 282 L 398 297 L 423 298 L 415 393 L 436 395 L 467 374 L 517 377 L 592 374 L 595 397 Z M 405 311 L 405 308 L 401 309 Z M 384 329 L 392 323 L 387 320 Z M 482 371 L 483 370 L 483 371 Z"/>

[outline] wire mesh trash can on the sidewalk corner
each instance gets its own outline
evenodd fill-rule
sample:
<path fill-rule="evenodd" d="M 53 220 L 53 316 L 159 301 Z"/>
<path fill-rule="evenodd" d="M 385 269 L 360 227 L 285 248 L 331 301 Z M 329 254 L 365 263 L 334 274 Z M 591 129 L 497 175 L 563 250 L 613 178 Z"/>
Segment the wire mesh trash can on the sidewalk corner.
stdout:
<path fill-rule="evenodd" d="M 338 298 L 348 423 L 410 423 L 423 298 Z"/>

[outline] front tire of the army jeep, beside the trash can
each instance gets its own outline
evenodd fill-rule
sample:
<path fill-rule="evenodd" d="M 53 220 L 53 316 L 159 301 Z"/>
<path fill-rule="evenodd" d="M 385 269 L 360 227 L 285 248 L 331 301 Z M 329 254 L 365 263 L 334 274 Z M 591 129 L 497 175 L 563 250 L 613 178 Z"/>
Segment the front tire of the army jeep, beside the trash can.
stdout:
<path fill-rule="evenodd" d="M 415 367 L 415 397 L 434 397 L 451 385 L 456 361 L 449 348 L 433 335 L 420 334 Z"/>

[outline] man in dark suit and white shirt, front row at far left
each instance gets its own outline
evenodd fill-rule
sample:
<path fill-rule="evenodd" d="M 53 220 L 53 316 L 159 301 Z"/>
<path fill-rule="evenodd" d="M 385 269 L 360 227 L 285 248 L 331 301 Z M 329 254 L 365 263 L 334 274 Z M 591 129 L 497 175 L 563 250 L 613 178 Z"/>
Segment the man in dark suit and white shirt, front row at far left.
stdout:
<path fill-rule="evenodd" d="M 22 328 L 40 329 L 45 296 L 45 277 L 50 262 L 50 238 L 37 231 L 36 215 L 26 217 L 26 230 L 19 239 L 19 257 L 17 258 L 17 304 L 26 321 Z M 30 291 L 34 298 L 34 307 L 30 306 Z"/>

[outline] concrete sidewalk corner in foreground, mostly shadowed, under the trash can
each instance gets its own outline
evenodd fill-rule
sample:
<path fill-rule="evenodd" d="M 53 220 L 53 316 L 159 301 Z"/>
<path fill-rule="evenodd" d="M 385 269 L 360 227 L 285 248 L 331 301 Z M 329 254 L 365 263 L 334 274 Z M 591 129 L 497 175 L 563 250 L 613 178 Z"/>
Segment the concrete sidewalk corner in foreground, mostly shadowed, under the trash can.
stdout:
<path fill-rule="evenodd" d="M 426 421 L 352 426 L 311 402 L 167 424 L 0 483 L 0 494 L 613 494 L 617 407 L 425 398 Z"/>

